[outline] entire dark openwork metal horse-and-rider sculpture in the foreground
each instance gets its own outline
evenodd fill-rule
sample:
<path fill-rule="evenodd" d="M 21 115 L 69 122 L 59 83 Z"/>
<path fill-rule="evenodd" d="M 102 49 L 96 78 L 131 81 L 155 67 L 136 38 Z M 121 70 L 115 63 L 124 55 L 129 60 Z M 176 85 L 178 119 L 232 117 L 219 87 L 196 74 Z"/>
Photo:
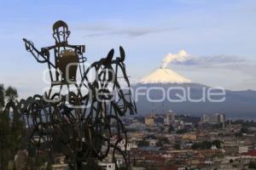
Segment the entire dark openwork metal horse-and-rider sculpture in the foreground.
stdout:
<path fill-rule="evenodd" d="M 55 153 L 61 153 L 73 169 L 82 169 L 90 159 L 104 161 L 106 157 L 111 157 L 117 169 L 120 167 L 117 160 L 121 158 L 124 162 L 121 166 L 129 169 L 126 149 L 120 147 L 122 140 L 125 148 L 127 144 L 120 117 L 127 112 L 136 113 L 136 105 L 131 100 L 124 49 L 119 48 L 116 59 L 111 49 L 106 58 L 85 68 L 85 47 L 67 43 L 70 35 L 67 24 L 57 21 L 53 31 L 55 45 L 41 50 L 23 39 L 26 50 L 39 63 L 47 63 L 51 80 L 49 91 L 21 99 L 6 108 L 7 111 L 13 108 L 26 122 L 30 132 L 28 150 L 36 148 L 37 157 L 46 152 L 49 164 Z M 77 72 L 81 81 L 77 80 Z M 126 88 L 122 88 L 123 82 Z M 55 86 L 59 86 L 57 93 L 52 91 Z M 63 86 L 67 86 L 67 94 L 61 94 Z"/>

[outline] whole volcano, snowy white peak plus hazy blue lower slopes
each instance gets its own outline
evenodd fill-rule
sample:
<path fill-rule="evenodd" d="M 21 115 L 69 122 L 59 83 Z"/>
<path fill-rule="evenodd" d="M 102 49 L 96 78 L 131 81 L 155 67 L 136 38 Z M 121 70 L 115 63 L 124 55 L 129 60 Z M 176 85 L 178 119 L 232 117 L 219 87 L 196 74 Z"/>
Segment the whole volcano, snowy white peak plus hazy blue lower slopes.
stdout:
<path fill-rule="evenodd" d="M 211 102 L 209 100 L 194 102 L 187 99 L 188 95 L 191 99 L 201 99 L 211 87 L 191 82 L 191 80 L 177 74 L 175 71 L 162 67 L 151 72 L 148 76 L 143 77 L 132 88 L 137 92 L 135 94 L 137 96 L 137 113 L 142 115 L 148 115 L 152 111 L 154 113 L 166 113 L 169 110 L 177 114 L 189 114 L 193 116 L 224 113 L 226 116 L 232 118 L 255 119 L 256 115 L 255 91 L 231 91 L 225 89 L 224 101 L 222 102 Z M 158 90 L 159 88 L 164 90 Z M 168 91 L 170 88 L 172 90 Z M 186 99 L 184 101 L 172 102 L 169 100 L 184 96 L 184 91 L 186 93 Z M 161 101 L 153 101 L 153 99 L 162 98 L 163 100 Z"/>

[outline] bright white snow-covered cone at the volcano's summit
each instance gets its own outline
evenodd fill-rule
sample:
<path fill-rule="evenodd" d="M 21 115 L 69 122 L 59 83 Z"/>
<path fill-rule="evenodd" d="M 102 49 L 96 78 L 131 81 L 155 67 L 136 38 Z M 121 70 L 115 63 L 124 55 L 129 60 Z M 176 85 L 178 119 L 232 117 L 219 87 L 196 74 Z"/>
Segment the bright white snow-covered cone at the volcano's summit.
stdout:
<path fill-rule="evenodd" d="M 147 77 L 143 77 L 140 80 L 141 83 L 184 83 L 191 82 L 188 78 L 182 77 L 171 69 L 159 68 L 149 74 Z"/>

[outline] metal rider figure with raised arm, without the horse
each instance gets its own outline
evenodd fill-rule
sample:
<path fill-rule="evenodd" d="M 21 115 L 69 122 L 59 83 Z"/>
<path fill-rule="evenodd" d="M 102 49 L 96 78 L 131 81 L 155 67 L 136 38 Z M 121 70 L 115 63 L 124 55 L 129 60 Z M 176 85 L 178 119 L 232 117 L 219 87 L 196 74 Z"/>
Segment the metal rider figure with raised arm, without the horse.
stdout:
<path fill-rule="evenodd" d="M 34 47 L 33 42 L 23 38 L 26 50 L 30 52 L 38 63 L 47 63 L 49 68 L 49 77 L 51 86 L 47 93 L 47 98 L 51 98 L 51 92 L 55 86 L 74 84 L 77 86 L 77 69 L 79 66 L 80 76 L 83 77 L 85 52 L 84 45 L 70 45 L 67 38 L 70 35 L 67 24 L 62 21 L 56 21 L 53 26 L 52 36 L 55 39 L 55 45 L 41 48 Z M 82 64 L 82 65 L 80 65 Z M 67 88 L 69 89 L 69 87 Z"/>

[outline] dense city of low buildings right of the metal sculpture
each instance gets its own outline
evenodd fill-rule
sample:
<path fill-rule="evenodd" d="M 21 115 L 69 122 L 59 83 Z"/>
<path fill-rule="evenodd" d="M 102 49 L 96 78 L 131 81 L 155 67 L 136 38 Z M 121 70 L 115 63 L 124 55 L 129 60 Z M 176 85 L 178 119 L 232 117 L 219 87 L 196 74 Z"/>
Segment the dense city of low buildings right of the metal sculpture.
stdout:
<path fill-rule="evenodd" d="M 255 122 L 149 114 L 125 118 L 135 169 L 254 169 Z"/>

